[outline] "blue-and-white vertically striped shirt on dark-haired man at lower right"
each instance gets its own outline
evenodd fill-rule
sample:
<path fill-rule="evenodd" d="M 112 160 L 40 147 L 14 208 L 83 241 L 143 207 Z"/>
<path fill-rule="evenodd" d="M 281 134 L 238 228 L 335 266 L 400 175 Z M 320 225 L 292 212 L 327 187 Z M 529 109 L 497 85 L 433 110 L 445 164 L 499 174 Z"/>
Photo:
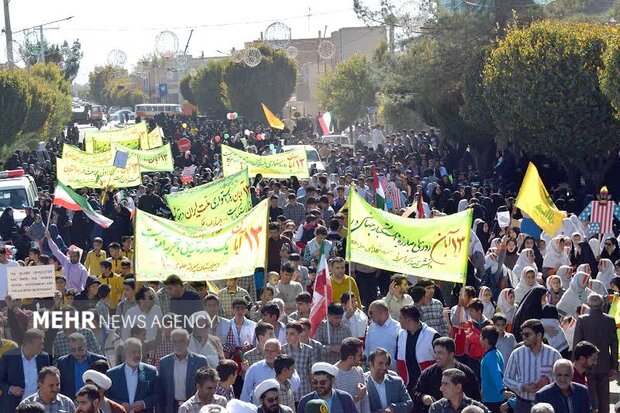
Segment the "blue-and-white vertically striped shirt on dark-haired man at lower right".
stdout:
<path fill-rule="evenodd" d="M 553 381 L 553 364 L 561 359 L 560 353 L 551 346 L 542 344 L 538 354 L 529 347 L 521 346 L 514 350 L 506 363 L 504 371 L 504 384 L 517 396 L 534 401 L 535 393 L 522 390 L 524 384 L 535 382 L 543 376 Z"/>

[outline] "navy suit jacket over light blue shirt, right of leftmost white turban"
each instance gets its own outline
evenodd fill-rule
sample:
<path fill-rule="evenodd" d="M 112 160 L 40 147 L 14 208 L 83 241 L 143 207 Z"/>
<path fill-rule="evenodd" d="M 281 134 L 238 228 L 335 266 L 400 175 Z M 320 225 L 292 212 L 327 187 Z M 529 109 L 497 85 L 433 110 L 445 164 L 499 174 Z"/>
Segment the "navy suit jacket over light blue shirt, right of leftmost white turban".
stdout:
<path fill-rule="evenodd" d="M 106 396 L 117 403 L 129 403 L 129 393 L 127 391 L 127 380 L 125 379 L 125 363 L 111 368 L 106 373 L 112 380 L 112 387 L 106 392 Z M 146 363 L 138 365 L 138 387 L 136 388 L 137 401 L 144 401 L 147 413 L 155 412 L 155 406 L 159 402 L 161 386 L 159 374 L 154 366 Z"/>

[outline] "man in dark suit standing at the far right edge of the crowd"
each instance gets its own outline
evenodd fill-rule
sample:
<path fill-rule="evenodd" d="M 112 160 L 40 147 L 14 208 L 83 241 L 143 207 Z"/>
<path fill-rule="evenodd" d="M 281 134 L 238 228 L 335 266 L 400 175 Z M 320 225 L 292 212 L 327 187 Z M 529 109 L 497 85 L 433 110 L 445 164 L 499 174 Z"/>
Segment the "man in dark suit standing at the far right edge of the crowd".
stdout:
<path fill-rule="evenodd" d="M 590 313 L 577 319 L 573 348 L 588 340 L 598 349 L 598 361 L 588 371 L 588 392 L 592 408 L 598 413 L 609 413 L 609 377 L 618 372 L 618 336 L 613 317 L 603 313 L 603 297 L 591 294 L 587 304 Z"/>

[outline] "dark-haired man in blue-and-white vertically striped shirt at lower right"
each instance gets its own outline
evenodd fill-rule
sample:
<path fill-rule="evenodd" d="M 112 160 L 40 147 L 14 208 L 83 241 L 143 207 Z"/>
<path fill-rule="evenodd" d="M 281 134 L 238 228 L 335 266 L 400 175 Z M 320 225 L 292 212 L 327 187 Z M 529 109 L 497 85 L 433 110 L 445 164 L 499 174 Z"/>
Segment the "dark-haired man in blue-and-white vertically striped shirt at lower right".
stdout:
<path fill-rule="evenodd" d="M 529 413 L 538 390 L 553 381 L 553 364 L 562 358 L 543 344 L 545 329 L 540 320 L 521 324 L 523 346 L 512 352 L 504 371 L 504 384 L 517 395 L 515 413 Z"/>

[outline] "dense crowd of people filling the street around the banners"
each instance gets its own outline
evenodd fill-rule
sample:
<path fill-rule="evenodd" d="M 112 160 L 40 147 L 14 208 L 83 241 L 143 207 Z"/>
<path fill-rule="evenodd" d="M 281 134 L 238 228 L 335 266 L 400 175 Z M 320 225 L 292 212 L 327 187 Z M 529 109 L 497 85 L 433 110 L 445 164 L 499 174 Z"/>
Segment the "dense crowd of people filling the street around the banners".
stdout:
<path fill-rule="evenodd" d="M 54 159 L 63 144 L 81 145 L 77 127 L 5 162 L 30 174 L 39 193 L 23 221 L 11 208 L 0 215 L 1 412 L 609 412 L 620 248 L 615 224 L 599 235 L 579 219 L 597 196 L 583 182 L 553 185 L 569 217 L 545 234 L 514 206 L 527 159 L 511 150 L 478 168 L 469 148 L 433 130 L 358 125 L 341 145 L 240 120 L 150 123 L 172 143 L 175 172 L 143 174 L 139 187 L 105 196 L 78 189 L 114 221 L 106 229 L 52 207 Z M 182 138 L 190 150 L 179 151 Z M 313 145 L 324 169 L 311 163 L 310 179 L 252 177 L 253 204 L 270 200 L 265 268 L 216 282 L 140 280 L 135 208 L 170 218 L 163 196 L 218 179 L 221 145 L 271 154 L 284 144 Z M 180 173 L 191 165 L 186 185 Z M 393 214 L 473 210 L 464 285 L 345 261 L 346 200 L 357 191 L 375 203 L 373 171 Z M 333 299 L 313 323 L 321 256 Z M 49 264 L 53 299 L 7 295 L 8 268 Z M 48 311 L 62 328 L 36 325 Z M 85 313 L 123 321 L 71 325 Z M 174 316 L 191 326 L 161 322 Z"/>

